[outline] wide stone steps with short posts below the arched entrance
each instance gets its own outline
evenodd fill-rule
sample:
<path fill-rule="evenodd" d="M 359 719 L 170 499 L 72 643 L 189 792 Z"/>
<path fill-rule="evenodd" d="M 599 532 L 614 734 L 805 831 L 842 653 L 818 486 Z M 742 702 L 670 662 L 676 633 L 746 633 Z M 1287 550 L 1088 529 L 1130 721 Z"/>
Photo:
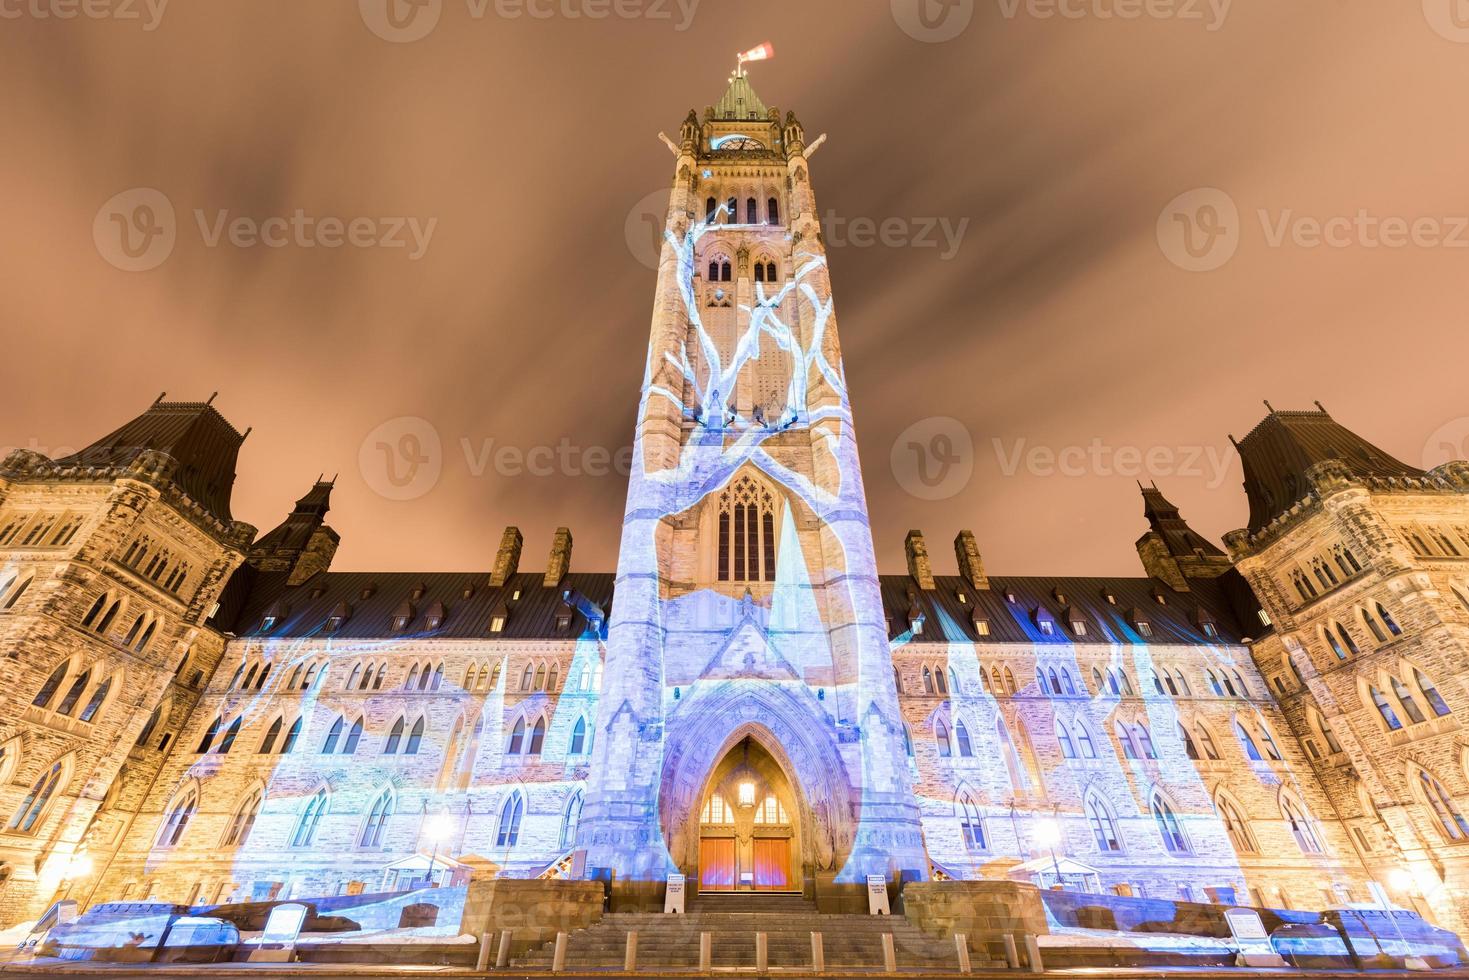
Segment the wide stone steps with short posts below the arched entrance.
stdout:
<path fill-rule="evenodd" d="M 811 933 L 823 934 L 829 970 L 883 968 L 883 933 L 893 934 L 899 971 L 958 970 L 952 939 L 934 939 L 918 932 L 902 915 L 823 915 L 801 895 L 737 892 L 692 896 L 685 915 L 635 912 L 604 915 L 589 929 L 571 933 L 566 968 L 621 968 L 627 933 L 638 933 L 638 970 L 696 970 L 699 933 L 711 933 L 711 965 L 715 970 L 757 967 L 755 933 L 765 933 L 771 970 L 809 970 Z M 532 949 L 514 961 L 520 970 L 551 970 L 555 943 Z M 971 952 L 974 967 L 990 964 Z"/>

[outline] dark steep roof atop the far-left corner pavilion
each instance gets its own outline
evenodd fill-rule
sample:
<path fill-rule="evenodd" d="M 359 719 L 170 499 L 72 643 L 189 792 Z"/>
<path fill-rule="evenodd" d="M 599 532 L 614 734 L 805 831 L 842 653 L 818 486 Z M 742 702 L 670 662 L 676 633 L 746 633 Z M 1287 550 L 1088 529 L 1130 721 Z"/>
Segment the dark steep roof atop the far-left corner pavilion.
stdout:
<path fill-rule="evenodd" d="M 245 436 L 207 401 L 163 401 L 97 439 L 85 450 L 56 460 L 57 466 L 129 466 L 147 451 L 165 453 L 178 463 L 170 480 L 210 516 L 229 523 L 229 497 L 235 463 Z"/>

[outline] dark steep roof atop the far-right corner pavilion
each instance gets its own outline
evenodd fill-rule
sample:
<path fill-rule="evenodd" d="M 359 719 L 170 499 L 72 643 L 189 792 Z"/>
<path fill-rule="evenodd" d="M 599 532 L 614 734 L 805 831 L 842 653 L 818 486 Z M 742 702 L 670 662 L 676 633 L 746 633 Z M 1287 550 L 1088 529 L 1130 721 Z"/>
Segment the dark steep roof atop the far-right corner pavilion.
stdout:
<path fill-rule="evenodd" d="M 1269 407 L 1269 403 L 1266 403 Z M 1244 464 L 1250 530 L 1259 532 L 1312 492 L 1306 475 L 1316 463 L 1340 460 L 1363 480 L 1422 478 L 1423 470 L 1388 455 L 1351 432 L 1316 404 L 1318 411 L 1265 416 L 1235 447 Z"/>

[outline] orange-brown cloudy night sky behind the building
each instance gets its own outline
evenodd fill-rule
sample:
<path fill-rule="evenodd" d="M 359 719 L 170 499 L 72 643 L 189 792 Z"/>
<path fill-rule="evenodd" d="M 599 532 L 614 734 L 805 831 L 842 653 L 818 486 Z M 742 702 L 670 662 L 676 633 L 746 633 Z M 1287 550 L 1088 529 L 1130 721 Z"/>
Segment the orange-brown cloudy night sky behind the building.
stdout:
<path fill-rule="evenodd" d="M 254 426 L 235 516 L 269 529 L 339 472 L 339 569 L 488 569 L 513 523 L 527 567 L 567 525 L 574 567 L 611 570 L 626 485 L 586 470 L 632 436 L 657 134 L 770 40 L 757 91 L 830 134 L 884 570 L 920 527 L 952 573 L 971 527 L 996 573 L 1138 574 L 1134 479 L 1241 526 L 1228 435 L 1265 398 L 1463 455 L 1456 0 L 923 0 L 945 41 L 918 0 L 383 1 L 0 0 L 0 445 L 59 455 L 219 391 Z M 297 212 L 282 247 L 229 232 Z M 427 469 L 395 486 L 379 442 Z"/>

